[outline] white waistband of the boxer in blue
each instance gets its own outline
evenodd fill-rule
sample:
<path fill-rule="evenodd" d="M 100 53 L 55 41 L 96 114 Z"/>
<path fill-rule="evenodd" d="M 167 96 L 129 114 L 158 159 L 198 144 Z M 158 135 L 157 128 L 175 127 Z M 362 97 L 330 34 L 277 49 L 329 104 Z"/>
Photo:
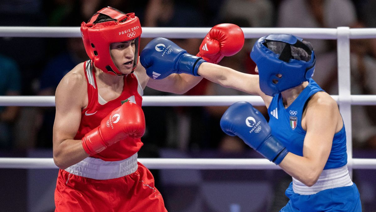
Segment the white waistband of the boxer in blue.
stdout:
<path fill-rule="evenodd" d="M 300 195 L 316 194 L 325 189 L 351 186 L 352 184 L 353 182 L 351 181 L 347 165 L 335 169 L 323 170 L 317 182 L 311 187 L 293 178 L 293 190 L 296 194 Z"/>

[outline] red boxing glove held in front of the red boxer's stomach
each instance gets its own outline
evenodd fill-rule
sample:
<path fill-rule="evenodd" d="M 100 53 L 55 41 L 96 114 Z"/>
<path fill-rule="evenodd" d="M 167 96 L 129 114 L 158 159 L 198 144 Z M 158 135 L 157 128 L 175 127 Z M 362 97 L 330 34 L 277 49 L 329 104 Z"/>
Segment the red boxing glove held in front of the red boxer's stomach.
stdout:
<path fill-rule="evenodd" d="M 140 138 L 145 133 L 145 116 L 140 106 L 126 102 L 114 109 L 100 125 L 86 133 L 81 143 L 89 155 L 97 154 L 124 138 Z"/>

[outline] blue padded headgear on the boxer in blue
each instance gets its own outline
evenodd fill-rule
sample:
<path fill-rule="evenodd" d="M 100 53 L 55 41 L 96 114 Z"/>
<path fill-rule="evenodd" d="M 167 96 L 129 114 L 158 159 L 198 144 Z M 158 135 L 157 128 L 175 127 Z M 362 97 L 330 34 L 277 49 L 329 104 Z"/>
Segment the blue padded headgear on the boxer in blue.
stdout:
<path fill-rule="evenodd" d="M 250 56 L 259 69 L 260 89 L 266 95 L 274 96 L 312 77 L 315 71 L 315 54 L 302 40 L 294 35 L 271 34 L 260 38 L 253 46 Z M 280 54 L 276 54 L 266 45 L 270 41 L 284 42 L 286 45 Z M 311 55 L 311 60 L 293 59 L 291 46 L 304 49 Z M 282 77 L 277 77 L 278 74 Z"/>

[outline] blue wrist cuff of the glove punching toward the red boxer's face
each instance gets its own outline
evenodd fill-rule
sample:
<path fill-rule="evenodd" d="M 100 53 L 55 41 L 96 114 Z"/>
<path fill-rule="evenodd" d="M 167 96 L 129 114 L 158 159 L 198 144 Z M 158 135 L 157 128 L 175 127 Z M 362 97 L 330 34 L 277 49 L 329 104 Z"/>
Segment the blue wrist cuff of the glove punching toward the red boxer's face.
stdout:
<path fill-rule="evenodd" d="M 200 76 L 197 71 L 199 70 L 199 67 L 203 62 L 206 61 L 201 57 L 196 57 L 191 54 L 183 54 L 178 63 L 177 70 L 179 71 L 179 73 Z"/>

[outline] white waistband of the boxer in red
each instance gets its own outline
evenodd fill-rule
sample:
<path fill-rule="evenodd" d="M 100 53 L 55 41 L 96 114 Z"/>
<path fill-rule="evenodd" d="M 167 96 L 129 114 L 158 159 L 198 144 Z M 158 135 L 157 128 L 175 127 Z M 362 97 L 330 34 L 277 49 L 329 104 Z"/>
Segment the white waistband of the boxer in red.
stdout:
<path fill-rule="evenodd" d="M 104 161 L 87 157 L 65 169 L 65 171 L 81 177 L 95 180 L 109 180 L 134 173 L 138 168 L 137 153 L 120 161 Z"/>

